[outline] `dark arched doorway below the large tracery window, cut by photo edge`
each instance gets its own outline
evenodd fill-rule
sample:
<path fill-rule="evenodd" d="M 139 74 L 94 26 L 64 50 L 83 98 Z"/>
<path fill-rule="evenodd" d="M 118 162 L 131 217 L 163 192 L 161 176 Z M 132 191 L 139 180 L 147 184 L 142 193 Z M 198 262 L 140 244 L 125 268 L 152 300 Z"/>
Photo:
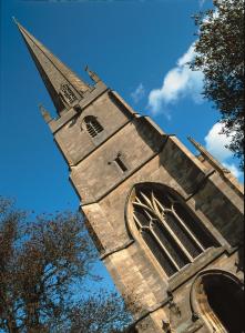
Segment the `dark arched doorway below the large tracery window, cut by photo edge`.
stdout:
<path fill-rule="evenodd" d="M 244 294 L 238 279 L 217 271 L 205 273 L 197 280 L 198 312 L 213 332 L 244 333 Z"/>

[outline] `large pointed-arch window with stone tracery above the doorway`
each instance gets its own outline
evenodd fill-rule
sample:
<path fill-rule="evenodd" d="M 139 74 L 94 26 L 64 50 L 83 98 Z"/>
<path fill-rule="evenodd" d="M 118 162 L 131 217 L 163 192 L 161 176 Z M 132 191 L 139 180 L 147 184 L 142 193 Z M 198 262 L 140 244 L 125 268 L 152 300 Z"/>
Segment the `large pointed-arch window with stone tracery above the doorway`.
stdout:
<path fill-rule="evenodd" d="M 132 204 L 136 228 L 167 276 L 215 245 L 186 203 L 165 186 L 137 185 Z"/>

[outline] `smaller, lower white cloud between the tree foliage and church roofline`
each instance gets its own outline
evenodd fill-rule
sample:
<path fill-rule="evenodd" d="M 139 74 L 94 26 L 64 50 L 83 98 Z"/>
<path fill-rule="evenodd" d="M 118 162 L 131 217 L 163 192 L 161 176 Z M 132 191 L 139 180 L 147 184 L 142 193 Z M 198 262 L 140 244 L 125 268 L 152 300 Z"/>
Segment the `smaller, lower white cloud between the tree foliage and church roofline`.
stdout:
<path fill-rule="evenodd" d="M 221 122 L 217 122 L 212 127 L 207 135 L 204 138 L 206 142 L 206 149 L 238 179 L 242 176 L 242 172 L 238 170 L 235 163 L 229 161 L 229 159 L 233 157 L 233 153 L 226 148 L 226 145 L 232 142 L 233 137 L 226 137 L 226 134 L 222 133 L 222 130 L 223 124 Z"/>

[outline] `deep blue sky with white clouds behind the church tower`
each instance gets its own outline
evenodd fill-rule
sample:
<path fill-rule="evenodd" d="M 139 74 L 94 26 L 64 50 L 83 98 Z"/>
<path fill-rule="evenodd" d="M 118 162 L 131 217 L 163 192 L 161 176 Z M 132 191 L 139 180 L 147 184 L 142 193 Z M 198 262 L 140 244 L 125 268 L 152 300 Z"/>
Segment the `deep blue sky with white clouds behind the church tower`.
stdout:
<path fill-rule="evenodd" d="M 195 26 L 191 16 L 206 0 L 2 0 L 0 194 L 37 213 L 76 210 L 68 167 L 52 141 L 38 104 L 55 114 L 14 16 L 79 75 L 94 70 L 136 111 L 151 115 L 192 151 L 186 137 L 206 145 L 226 167 L 237 162 L 218 135 L 218 112 L 202 100 L 202 73 L 192 59 Z"/>

